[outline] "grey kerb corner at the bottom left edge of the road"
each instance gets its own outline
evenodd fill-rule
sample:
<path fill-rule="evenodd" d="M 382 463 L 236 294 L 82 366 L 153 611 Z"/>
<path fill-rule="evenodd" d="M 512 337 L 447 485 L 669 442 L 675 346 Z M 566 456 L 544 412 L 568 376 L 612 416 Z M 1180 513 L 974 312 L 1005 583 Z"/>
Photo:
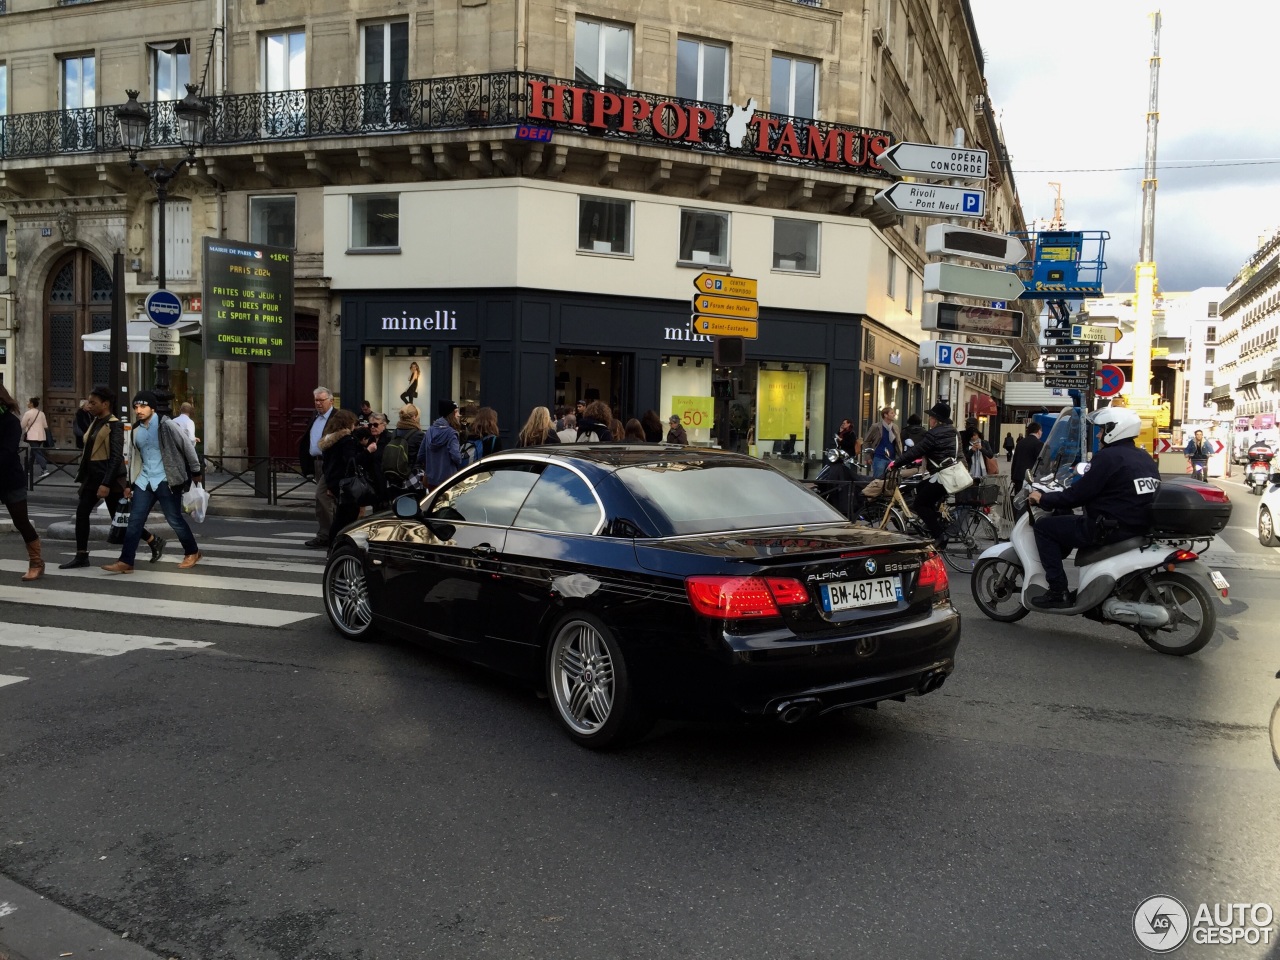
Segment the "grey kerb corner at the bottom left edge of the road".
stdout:
<path fill-rule="evenodd" d="M 160 954 L 0 876 L 0 960 L 51 956 L 164 960 Z"/>

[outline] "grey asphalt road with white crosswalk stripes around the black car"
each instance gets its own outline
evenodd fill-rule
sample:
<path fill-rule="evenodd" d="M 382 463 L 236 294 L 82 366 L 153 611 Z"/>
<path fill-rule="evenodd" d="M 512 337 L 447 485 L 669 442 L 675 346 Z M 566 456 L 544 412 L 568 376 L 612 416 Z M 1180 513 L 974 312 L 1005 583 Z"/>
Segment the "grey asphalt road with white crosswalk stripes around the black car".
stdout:
<path fill-rule="evenodd" d="M 961 576 L 938 692 L 605 755 L 526 690 L 340 640 L 302 524 L 36 585 L 0 538 L 0 945 L 26 922 L 28 960 L 106 957 L 72 943 L 91 920 L 183 960 L 1121 957 L 1152 895 L 1280 910 L 1280 550 L 1234 494 L 1194 657 L 988 622 Z M 5 916 L 5 890 L 33 893 Z"/>

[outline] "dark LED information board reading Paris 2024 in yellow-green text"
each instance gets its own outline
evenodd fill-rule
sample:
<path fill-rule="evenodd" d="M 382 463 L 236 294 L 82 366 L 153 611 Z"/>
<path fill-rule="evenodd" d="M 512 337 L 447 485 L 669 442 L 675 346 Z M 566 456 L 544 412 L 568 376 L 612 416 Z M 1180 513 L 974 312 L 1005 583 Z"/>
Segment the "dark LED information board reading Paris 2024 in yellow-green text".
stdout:
<path fill-rule="evenodd" d="M 205 358 L 293 362 L 293 251 L 205 237 Z"/>

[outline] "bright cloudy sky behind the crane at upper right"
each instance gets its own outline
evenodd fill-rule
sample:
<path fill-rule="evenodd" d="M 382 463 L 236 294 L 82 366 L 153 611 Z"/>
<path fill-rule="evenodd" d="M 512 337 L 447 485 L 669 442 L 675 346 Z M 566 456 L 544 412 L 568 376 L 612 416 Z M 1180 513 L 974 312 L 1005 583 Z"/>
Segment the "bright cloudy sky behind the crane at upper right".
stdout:
<path fill-rule="evenodd" d="M 1280 228 L 1280 4 L 970 3 L 1028 224 L 1052 215 L 1048 182 L 1061 182 L 1068 227 L 1111 233 L 1107 293 L 1133 289 L 1139 255 L 1156 9 L 1164 15 L 1156 151 L 1161 289 L 1225 287 L 1258 237 Z M 1270 163 L 1228 165 L 1231 160 Z M 1126 169 L 1087 172 L 1097 168 Z"/>

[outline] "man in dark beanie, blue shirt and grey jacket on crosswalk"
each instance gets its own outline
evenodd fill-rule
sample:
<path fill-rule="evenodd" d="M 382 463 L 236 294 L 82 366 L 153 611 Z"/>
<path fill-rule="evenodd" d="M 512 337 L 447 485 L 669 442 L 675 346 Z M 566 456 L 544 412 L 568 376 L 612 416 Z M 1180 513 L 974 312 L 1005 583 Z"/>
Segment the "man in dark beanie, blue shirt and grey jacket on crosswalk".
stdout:
<path fill-rule="evenodd" d="M 155 404 L 156 396 L 151 390 L 140 390 L 133 398 L 133 412 L 137 416 L 131 431 L 133 457 L 129 461 L 129 477 L 124 483 L 124 497 L 131 500 L 129 526 L 124 531 L 120 559 L 102 567 L 109 573 L 133 572 L 133 558 L 142 539 L 142 529 L 156 502 L 182 543 L 184 556 L 178 570 L 191 570 L 200 561 L 196 538 L 182 513 L 182 494 L 187 485 L 204 479 L 196 444 L 178 424 L 157 413 Z"/>

